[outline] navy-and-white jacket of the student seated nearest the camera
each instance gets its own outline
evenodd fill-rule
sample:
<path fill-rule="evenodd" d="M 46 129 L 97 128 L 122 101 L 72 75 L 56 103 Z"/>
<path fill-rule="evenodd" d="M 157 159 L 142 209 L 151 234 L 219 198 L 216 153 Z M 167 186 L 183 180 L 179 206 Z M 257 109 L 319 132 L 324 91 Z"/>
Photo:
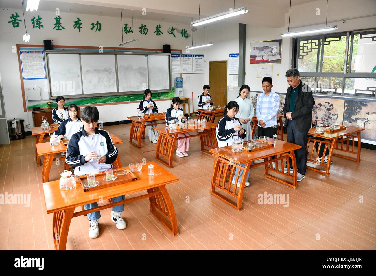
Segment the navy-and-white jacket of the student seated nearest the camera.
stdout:
<path fill-rule="evenodd" d="M 95 158 L 85 161 L 85 156 L 91 151 L 97 154 L 105 155 L 106 162 L 98 164 Z M 72 135 L 67 146 L 65 162 L 75 167 L 75 175 L 84 175 L 91 172 L 102 172 L 112 168 L 112 162 L 115 161 L 118 150 L 112 143 L 111 136 L 107 131 L 100 128 L 95 129 L 95 133 L 90 136 L 82 128 L 81 131 Z"/>

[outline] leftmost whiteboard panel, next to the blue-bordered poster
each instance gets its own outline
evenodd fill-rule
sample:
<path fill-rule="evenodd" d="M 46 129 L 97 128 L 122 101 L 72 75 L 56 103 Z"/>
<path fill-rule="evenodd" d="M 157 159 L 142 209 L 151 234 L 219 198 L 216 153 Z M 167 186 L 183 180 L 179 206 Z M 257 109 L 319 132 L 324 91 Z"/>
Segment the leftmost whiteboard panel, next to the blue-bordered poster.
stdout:
<path fill-rule="evenodd" d="M 81 71 L 78 54 L 49 54 L 52 96 L 81 95 Z"/>

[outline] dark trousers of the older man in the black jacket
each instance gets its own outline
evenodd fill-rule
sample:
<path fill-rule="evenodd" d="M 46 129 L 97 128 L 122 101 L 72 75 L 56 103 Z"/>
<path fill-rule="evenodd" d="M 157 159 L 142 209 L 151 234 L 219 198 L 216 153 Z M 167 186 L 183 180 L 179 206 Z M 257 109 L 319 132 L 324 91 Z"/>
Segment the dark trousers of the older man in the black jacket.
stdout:
<path fill-rule="evenodd" d="M 295 150 L 296 166 L 298 168 L 298 172 L 302 175 L 305 175 L 307 169 L 307 132 L 308 131 L 301 132 L 297 130 L 295 120 L 290 120 L 288 122 L 287 142 L 302 146 L 301 149 Z M 292 162 L 290 157 L 289 162 L 291 166 Z"/>

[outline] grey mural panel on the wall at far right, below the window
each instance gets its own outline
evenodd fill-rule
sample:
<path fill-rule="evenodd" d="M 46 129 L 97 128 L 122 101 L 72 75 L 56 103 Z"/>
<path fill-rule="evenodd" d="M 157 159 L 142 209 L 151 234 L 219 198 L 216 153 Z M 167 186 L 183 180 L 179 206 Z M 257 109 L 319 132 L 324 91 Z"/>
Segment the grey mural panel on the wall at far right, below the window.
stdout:
<path fill-rule="evenodd" d="M 361 132 L 361 137 L 376 141 L 375 102 L 345 100 L 343 120 L 354 126 L 358 126 L 358 123 L 364 124 L 365 131 Z"/>

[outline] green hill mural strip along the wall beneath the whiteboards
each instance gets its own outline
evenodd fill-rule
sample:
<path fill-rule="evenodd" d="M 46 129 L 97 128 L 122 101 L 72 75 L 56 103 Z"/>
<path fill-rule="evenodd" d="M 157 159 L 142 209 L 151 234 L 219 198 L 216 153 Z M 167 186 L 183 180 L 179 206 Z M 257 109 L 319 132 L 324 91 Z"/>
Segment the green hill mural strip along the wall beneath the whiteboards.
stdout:
<path fill-rule="evenodd" d="M 174 97 L 174 88 L 172 88 L 171 92 L 162 92 L 162 93 L 153 94 L 153 100 L 169 99 L 173 97 Z M 78 98 L 78 99 L 71 99 L 71 100 L 72 101 L 69 101 L 69 102 L 66 101 L 65 106 L 68 106 L 68 104 L 77 104 L 77 106 L 79 106 L 79 105 L 86 105 L 86 104 L 142 101 L 144 100 L 144 94 L 130 94 L 130 95 L 110 96 L 110 97 Z M 56 106 L 57 105 L 54 101 L 51 102 L 51 107 L 56 107 Z M 48 104 L 47 103 L 33 104 L 32 106 L 28 106 L 27 109 L 32 109 L 33 107 L 48 108 Z"/>

